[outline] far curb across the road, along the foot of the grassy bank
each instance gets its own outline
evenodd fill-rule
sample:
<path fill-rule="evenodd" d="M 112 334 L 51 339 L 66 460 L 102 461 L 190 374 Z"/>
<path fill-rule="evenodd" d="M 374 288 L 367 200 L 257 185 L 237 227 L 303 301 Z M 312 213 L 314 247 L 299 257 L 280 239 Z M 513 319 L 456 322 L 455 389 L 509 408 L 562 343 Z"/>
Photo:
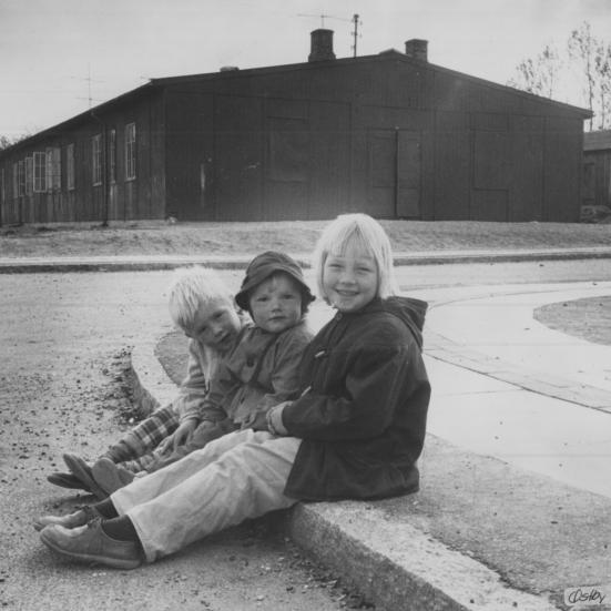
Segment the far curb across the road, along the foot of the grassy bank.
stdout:
<path fill-rule="evenodd" d="M 293 257 L 305 268 L 310 267 L 309 255 L 294 254 Z M 174 269 L 185 265 L 207 265 L 217 269 L 243 269 L 251 256 L 183 256 L 141 255 L 104 257 L 58 257 L 58 258 L 0 258 L 0 274 L 32 274 L 51 272 L 143 272 Z M 506 251 L 444 251 L 395 253 L 395 265 L 446 265 L 451 263 L 509 263 L 528 261 L 572 261 L 588 258 L 611 258 L 611 248 L 540 248 Z"/>

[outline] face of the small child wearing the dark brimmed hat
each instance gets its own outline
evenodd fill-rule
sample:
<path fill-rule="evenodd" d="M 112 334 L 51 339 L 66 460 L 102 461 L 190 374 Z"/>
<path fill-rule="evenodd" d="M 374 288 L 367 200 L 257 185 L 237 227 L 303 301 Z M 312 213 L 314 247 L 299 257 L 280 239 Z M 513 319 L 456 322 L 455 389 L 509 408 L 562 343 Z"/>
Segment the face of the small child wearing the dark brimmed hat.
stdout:
<path fill-rule="evenodd" d="M 255 325 L 268 333 L 282 333 L 302 319 L 302 292 L 286 274 L 263 281 L 248 296 Z"/>

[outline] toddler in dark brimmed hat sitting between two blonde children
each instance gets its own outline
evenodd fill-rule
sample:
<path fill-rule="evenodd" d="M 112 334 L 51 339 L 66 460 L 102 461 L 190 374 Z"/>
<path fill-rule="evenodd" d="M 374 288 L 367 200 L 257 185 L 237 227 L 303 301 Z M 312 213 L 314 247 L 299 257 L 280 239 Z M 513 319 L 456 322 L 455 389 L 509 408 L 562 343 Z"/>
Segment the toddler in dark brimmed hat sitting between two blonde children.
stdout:
<path fill-rule="evenodd" d="M 288 255 L 268 251 L 250 263 L 235 302 L 253 324 L 243 327 L 234 348 L 218 364 L 203 403 L 181 415 L 172 446 L 152 452 L 153 460 L 142 475 L 226 432 L 259 426 L 272 407 L 297 398 L 299 360 L 313 337 L 305 323 L 313 301 L 299 265 Z M 112 482 L 129 482 L 130 473 L 124 471 L 112 460 L 98 461 L 94 477 L 114 488 Z"/>

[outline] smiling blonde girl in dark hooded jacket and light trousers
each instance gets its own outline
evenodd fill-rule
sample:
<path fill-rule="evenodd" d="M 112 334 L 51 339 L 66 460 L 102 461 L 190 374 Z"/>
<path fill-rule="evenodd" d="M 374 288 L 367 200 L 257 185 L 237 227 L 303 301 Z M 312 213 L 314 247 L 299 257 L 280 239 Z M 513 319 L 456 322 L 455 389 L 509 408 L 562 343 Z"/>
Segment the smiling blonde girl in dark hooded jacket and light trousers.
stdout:
<path fill-rule="evenodd" d="M 37 522 L 42 541 L 115 568 L 152 562 L 298 500 L 373 499 L 418 489 L 430 396 L 421 358 L 426 304 L 397 293 L 388 236 L 339 216 L 315 252 L 320 296 L 337 313 L 301 364 L 301 397 L 108 500 Z"/>

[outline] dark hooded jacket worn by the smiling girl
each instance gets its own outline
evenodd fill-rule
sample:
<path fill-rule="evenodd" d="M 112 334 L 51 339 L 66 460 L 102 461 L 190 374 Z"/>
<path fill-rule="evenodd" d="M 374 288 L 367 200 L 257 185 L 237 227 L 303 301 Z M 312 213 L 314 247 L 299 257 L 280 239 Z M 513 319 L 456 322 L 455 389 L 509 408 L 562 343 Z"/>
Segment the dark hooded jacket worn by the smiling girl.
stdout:
<path fill-rule="evenodd" d="M 283 425 L 303 439 L 285 493 L 303 500 L 415 492 L 430 385 L 421 356 L 427 304 L 374 299 L 337 313 L 302 359 L 303 395 Z"/>

